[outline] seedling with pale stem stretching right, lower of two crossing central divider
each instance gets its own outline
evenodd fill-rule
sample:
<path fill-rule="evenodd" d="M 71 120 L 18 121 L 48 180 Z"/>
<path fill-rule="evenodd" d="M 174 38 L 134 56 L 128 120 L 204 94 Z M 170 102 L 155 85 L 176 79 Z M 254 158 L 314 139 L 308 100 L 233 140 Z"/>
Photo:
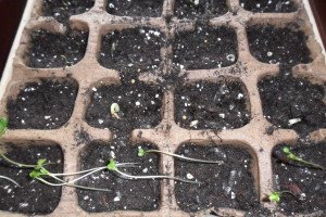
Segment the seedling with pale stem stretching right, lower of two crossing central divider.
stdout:
<path fill-rule="evenodd" d="M 125 163 L 125 164 L 129 164 L 129 165 L 135 165 L 135 163 Z M 181 182 L 188 182 L 188 183 L 202 183 L 200 181 L 189 181 L 186 179 L 181 179 L 178 177 L 172 177 L 172 176 L 163 176 L 163 175 L 159 175 L 159 176 L 133 176 L 126 173 L 123 173 L 122 170 L 118 169 L 121 164 L 117 164 L 114 159 L 110 159 L 109 164 L 108 164 L 108 169 L 111 171 L 115 171 L 116 174 L 118 174 L 122 178 L 125 179 L 172 179 L 175 181 L 181 181 Z"/>

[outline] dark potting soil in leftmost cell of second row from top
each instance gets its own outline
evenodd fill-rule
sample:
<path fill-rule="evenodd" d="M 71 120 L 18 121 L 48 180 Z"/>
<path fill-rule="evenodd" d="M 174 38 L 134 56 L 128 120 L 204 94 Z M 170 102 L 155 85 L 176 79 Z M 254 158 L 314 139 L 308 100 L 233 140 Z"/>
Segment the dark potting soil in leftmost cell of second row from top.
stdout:
<path fill-rule="evenodd" d="M 37 68 L 65 67 L 79 62 L 86 52 L 88 33 L 67 30 L 53 34 L 45 29 L 33 31 L 25 53 L 26 65 Z"/>

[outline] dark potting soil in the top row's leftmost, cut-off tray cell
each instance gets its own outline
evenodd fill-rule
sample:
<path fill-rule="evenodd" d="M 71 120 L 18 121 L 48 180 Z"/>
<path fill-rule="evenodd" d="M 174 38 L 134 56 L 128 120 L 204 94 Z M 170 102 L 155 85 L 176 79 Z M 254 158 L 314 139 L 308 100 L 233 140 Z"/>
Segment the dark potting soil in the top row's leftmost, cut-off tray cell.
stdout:
<path fill-rule="evenodd" d="M 93 7 L 95 0 L 43 0 L 42 15 L 53 16 L 67 24 L 72 15 L 82 14 Z"/>

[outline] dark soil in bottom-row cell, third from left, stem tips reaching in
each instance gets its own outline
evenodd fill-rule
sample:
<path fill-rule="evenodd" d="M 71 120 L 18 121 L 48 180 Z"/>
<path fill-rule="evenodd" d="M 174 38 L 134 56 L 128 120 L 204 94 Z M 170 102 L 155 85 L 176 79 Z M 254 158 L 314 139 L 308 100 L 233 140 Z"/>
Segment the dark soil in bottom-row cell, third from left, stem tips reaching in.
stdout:
<path fill-rule="evenodd" d="M 202 181 L 202 184 L 176 182 L 175 196 L 185 212 L 209 207 L 229 207 L 251 210 L 259 206 L 250 154 L 229 144 L 202 146 L 195 143 L 181 145 L 177 154 L 224 164 L 200 164 L 175 161 L 175 176 Z M 193 177 L 193 178 L 192 178 Z"/>

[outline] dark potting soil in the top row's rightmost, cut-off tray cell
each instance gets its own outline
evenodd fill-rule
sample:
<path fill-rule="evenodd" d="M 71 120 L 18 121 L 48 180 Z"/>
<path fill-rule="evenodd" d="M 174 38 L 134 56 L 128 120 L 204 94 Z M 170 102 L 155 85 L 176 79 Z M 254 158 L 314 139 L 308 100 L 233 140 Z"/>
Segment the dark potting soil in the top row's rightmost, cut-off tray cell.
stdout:
<path fill-rule="evenodd" d="M 289 13 L 297 11 L 293 0 L 240 0 L 240 5 L 258 13 Z"/>

